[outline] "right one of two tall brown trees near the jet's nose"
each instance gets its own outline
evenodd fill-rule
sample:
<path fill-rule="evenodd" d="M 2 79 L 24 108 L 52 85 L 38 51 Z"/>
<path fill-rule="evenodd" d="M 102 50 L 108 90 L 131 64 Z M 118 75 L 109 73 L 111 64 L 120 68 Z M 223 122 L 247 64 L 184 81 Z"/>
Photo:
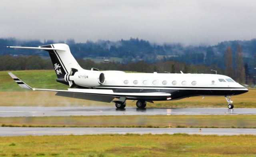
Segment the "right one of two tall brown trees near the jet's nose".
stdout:
<path fill-rule="evenodd" d="M 245 70 L 241 45 L 236 47 L 236 79 L 239 83 L 245 82 Z"/>

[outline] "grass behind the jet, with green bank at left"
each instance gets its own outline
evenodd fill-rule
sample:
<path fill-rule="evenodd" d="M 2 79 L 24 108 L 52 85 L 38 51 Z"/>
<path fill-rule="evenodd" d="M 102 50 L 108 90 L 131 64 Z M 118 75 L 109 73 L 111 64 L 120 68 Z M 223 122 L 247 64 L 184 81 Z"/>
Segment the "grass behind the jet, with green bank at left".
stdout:
<path fill-rule="evenodd" d="M 31 87 L 45 89 L 67 89 L 68 86 L 56 82 L 54 70 L 13 71 Z M 55 92 L 29 91 L 21 89 L 6 71 L 0 72 L 0 106 L 108 106 L 102 103 L 82 99 L 59 97 Z M 233 96 L 235 108 L 256 108 L 256 90 Z M 22 101 L 20 101 L 22 99 Z M 42 101 L 43 100 L 43 101 Z M 127 101 L 127 107 L 135 107 L 135 102 Z M 155 101 L 147 107 L 227 107 L 224 97 L 189 97 L 176 101 Z"/>

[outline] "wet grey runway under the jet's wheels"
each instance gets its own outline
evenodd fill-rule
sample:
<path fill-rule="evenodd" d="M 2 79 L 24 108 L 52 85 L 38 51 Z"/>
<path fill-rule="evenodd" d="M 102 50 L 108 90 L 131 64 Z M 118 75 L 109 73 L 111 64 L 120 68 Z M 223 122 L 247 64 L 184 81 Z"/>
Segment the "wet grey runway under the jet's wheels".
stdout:
<path fill-rule="evenodd" d="M 128 107 L 0 107 L 0 117 L 70 115 L 224 115 L 256 114 L 256 108 L 145 108 Z"/>

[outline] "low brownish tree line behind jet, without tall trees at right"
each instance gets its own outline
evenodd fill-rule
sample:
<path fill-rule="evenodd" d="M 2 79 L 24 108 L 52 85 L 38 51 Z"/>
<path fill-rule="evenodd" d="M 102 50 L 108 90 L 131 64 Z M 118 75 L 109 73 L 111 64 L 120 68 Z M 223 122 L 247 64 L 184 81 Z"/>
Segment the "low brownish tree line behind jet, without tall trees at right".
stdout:
<path fill-rule="evenodd" d="M 116 63 L 116 62 L 101 62 L 95 63 L 92 60 L 84 60 L 82 58 L 77 59 L 78 64 L 87 70 L 91 68 L 97 68 L 99 70 L 121 70 L 131 72 L 170 72 L 170 73 L 206 73 L 210 74 L 211 68 L 218 70 L 220 74 L 224 74 L 224 70 L 217 66 L 204 66 L 186 64 L 184 62 L 166 61 L 163 60 L 154 64 L 147 62 L 129 62 L 128 64 Z M 43 59 L 40 56 L 18 56 L 13 57 L 10 55 L 0 56 L 0 70 L 48 70 L 53 69 L 50 58 Z"/>

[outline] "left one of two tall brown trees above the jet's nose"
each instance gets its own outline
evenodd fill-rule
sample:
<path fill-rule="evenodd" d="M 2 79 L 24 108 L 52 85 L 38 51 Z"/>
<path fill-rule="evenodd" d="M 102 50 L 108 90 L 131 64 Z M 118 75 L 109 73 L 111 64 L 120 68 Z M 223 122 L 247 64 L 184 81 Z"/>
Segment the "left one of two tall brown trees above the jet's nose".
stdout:
<path fill-rule="evenodd" d="M 234 78 L 234 68 L 233 68 L 233 60 L 232 60 L 232 50 L 230 46 L 228 46 L 225 53 L 225 75 L 231 78 Z"/>

